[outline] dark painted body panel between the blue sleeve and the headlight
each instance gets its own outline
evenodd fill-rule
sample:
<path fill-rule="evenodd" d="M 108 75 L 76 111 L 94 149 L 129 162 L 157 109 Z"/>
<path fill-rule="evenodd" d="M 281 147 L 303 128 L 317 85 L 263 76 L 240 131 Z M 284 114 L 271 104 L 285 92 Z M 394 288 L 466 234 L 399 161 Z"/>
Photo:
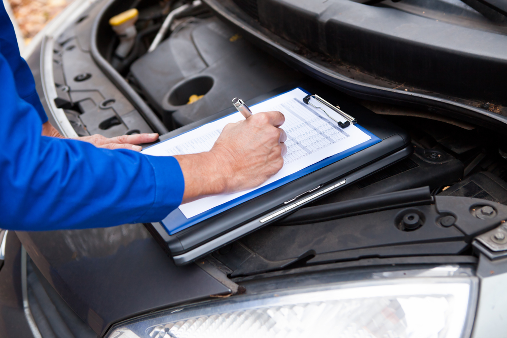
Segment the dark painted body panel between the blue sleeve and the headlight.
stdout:
<path fill-rule="evenodd" d="M 136 314 L 229 292 L 197 265 L 176 268 L 142 224 L 17 235 L 44 277 L 100 335 Z"/>

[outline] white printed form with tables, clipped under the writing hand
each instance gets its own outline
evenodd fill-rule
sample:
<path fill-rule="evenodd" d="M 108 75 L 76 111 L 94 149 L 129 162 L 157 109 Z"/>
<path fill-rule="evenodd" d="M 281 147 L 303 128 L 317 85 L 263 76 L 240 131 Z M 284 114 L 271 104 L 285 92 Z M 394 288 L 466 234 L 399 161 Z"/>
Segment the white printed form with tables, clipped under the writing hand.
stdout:
<path fill-rule="evenodd" d="M 303 98 L 306 95 L 304 91 L 296 88 L 250 107 L 253 114 L 261 111 L 278 110 L 285 116 L 285 123 L 281 128 L 287 134 L 287 140 L 285 141 L 287 154 L 283 157 L 282 169 L 264 184 L 254 189 L 239 193 L 209 196 L 182 204 L 179 206 L 179 210 L 182 211 L 185 217 L 191 218 L 232 201 L 259 189 L 261 186 L 294 174 L 325 158 L 344 152 L 371 139 L 368 134 L 355 125 L 350 125 L 345 129 L 338 127 L 336 122 L 329 119 L 320 109 L 305 104 Z M 244 117 L 240 112 L 236 112 L 151 146 L 142 153 L 153 156 L 173 156 L 207 152 L 211 149 L 225 125 L 241 120 L 244 120 Z"/>

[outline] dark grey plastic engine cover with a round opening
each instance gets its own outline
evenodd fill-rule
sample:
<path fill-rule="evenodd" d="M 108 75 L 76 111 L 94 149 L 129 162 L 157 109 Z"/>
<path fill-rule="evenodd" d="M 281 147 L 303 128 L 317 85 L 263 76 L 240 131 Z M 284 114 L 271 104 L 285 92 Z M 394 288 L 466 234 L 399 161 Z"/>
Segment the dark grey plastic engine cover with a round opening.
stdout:
<path fill-rule="evenodd" d="M 216 18 L 181 24 L 131 74 L 172 129 L 300 80 L 302 75 L 246 42 Z M 191 95 L 204 95 L 187 104 Z"/>

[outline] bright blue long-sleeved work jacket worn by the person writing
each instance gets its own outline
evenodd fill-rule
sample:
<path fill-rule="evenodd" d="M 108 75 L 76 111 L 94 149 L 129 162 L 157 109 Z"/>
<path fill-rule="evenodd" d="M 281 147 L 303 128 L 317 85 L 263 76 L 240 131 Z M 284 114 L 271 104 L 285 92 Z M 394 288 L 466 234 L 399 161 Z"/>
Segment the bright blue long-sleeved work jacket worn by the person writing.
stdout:
<path fill-rule="evenodd" d="M 173 157 L 41 136 L 48 120 L 0 6 L 0 228 L 57 230 L 160 221 L 182 201 Z"/>

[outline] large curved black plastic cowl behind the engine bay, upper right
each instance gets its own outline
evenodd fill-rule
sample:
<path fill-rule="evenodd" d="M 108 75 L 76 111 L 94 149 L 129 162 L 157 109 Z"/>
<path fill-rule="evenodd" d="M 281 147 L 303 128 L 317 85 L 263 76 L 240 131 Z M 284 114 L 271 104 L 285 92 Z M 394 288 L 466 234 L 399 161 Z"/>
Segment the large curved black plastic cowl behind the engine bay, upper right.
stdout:
<path fill-rule="evenodd" d="M 424 17 L 424 8 L 349 0 L 204 2 L 266 51 L 349 95 L 496 129 L 507 121 L 507 37 L 470 8 L 447 9 L 454 20 L 443 21 Z"/>

